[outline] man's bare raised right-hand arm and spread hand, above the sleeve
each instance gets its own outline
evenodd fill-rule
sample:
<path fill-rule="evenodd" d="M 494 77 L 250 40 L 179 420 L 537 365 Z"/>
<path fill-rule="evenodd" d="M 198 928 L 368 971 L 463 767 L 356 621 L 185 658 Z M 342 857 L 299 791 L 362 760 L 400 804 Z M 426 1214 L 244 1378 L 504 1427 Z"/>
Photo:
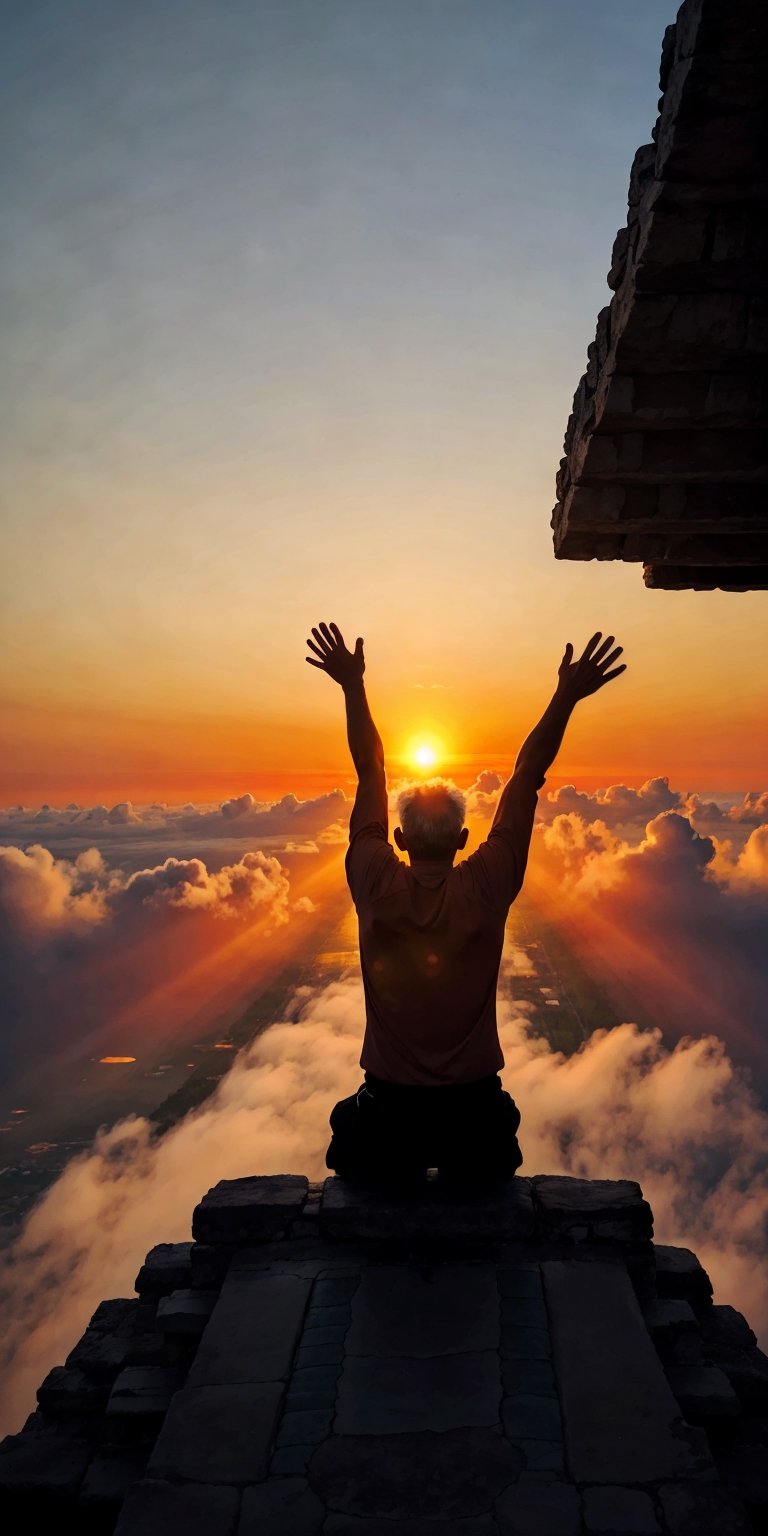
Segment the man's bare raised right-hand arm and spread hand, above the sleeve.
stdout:
<path fill-rule="evenodd" d="M 613 662 L 622 653 L 621 645 L 611 650 L 613 641 L 613 634 L 608 634 L 604 641 L 602 633 L 598 630 L 585 645 L 578 662 L 573 660 L 573 645 L 568 641 L 558 670 L 558 687 L 539 723 L 533 727 L 533 731 L 525 737 L 518 753 L 515 773 L 504 786 L 496 806 L 493 826 L 504 825 L 515 814 L 518 786 L 533 785 L 536 790 L 541 786 L 561 750 L 565 727 L 579 699 L 587 699 L 590 693 L 598 693 L 598 688 L 602 688 L 611 677 L 617 677 L 619 673 L 627 670 L 624 662 L 621 667 L 613 667 Z"/>

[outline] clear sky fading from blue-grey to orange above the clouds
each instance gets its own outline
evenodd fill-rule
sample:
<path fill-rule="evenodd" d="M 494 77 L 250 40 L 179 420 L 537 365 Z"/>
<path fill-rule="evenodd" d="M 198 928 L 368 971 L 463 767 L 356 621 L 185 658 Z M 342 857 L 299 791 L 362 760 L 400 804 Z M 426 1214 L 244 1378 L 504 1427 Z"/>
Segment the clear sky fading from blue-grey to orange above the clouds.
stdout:
<path fill-rule="evenodd" d="M 573 390 L 670 0 L 8 0 L 0 793 L 515 756 L 567 639 L 576 782 L 762 786 L 765 594 L 556 562 Z M 436 687 L 435 687 L 436 685 Z"/>

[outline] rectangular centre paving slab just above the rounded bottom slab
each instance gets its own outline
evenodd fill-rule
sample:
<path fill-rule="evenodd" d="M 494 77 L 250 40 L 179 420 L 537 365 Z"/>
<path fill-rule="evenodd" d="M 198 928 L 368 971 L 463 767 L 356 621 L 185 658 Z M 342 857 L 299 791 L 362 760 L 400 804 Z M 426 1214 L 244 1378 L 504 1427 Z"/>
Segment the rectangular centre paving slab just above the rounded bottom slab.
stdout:
<path fill-rule="evenodd" d="M 387 1359 L 347 1355 L 338 1384 L 338 1436 L 495 1427 L 499 1359 L 493 1350 Z"/>

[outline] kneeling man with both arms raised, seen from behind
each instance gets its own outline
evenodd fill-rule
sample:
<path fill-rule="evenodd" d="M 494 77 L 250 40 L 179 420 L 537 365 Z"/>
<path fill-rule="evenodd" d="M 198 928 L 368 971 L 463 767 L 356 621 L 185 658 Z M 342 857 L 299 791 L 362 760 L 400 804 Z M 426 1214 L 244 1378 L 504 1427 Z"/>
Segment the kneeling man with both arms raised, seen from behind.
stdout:
<path fill-rule="evenodd" d="M 519 1111 L 498 1075 L 504 928 L 525 874 L 538 791 L 578 700 L 625 671 L 613 665 L 622 647 L 593 634 L 578 662 L 565 647 L 554 694 L 468 859 L 453 863 L 468 837 L 455 785 L 432 780 L 399 796 L 395 842 L 409 866 L 387 840 L 384 748 L 366 699 L 362 641 L 349 651 L 335 624 L 312 636 L 309 665 L 344 691 L 358 773 L 346 869 L 366 994 L 366 1080 L 330 1115 L 326 1163 L 370 1186 L 415 1186 L 429 1167 L 452 1187 L 508 1178 L 522 1155 Z"/>

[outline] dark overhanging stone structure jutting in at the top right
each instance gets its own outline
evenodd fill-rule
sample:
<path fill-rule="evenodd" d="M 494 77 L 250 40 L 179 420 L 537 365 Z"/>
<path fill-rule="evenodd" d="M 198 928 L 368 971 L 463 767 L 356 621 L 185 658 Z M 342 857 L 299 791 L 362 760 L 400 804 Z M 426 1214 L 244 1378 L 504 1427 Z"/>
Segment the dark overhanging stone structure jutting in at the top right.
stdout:
<path fill-rule="evenodd" d="M 768 587 L 768 6 L 685 0 L 573 401 L 558 559 Z"/>

